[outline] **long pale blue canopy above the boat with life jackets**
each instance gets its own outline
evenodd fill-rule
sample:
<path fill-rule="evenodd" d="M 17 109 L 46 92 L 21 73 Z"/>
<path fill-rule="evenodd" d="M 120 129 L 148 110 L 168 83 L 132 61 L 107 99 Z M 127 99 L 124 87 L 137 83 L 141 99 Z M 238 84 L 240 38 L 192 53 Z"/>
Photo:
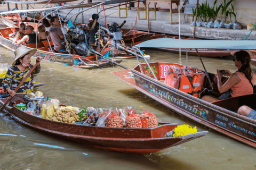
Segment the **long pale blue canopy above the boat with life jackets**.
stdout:
<path fill-rule="evenodd" d="M 135 46 L 145 48 L 256 49 L 256 40 L 193 40 L 158 38 Z"/>

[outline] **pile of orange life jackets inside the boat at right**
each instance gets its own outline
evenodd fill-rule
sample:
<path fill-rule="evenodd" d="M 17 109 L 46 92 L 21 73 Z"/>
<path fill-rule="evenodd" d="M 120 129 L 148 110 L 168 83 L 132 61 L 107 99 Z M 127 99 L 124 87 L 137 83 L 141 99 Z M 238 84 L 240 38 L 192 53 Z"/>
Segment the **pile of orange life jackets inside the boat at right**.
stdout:
<path fill-rule="evenodd" d="M 205 73 L 196 67 L 169 67 L 164 83 L 187 94 L 200 98 Z"/>

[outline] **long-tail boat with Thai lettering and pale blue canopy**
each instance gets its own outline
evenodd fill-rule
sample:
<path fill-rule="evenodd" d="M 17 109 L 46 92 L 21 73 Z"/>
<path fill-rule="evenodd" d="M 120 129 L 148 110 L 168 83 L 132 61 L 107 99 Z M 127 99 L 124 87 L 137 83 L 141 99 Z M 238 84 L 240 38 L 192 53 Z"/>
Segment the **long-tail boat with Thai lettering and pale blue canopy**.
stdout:
<path fill-rule="evenodd" d="M 255 41 L 221 41 L 221 40 L 171 40 L 155 39 L 145 41 L 139 47 L 173 47 L 173 48 L 228 48 L 255 49 Z M 199 53 L 198 53 L 199 54 Z M 200 58 L 201 59 L 201 58 Z M 202 60 L 201 60 L 202 61 Z M 203 62 L 202 62 L 203 64 Z M 185 93 L 164 83 L 169 67 L 183 67 L 175 63 L 154 62 L 139 64 L 132 70 L 112 72 L 116 77 L 130 84 L 143 94 L 153 98 L 173 111 L 190 118 L 228 137 L 256 147 L 256 120 L 239 115 L 234 110 L 242 105 L 256 109 L 256 94 L 228 98 L 208 103 L 201 98 Z M 203 65 L 204 66 L 204 65 Z M 218 91 L 217 78 L 213 73 L 207 73 L 204 81 L 199 84 L 205 93 L 201 95 L 221 94 Z M 207 79 L 206 79 L 207 77 Z M 225 82 L 228 78 L 222 77 Z M 185 84 L 186 85 L 186 84 Z M 189 84 L 188 84 L 189 85 Z M 192 86 L 191 84 L 189 87 Z M 255 89 L 255 87 L 254 87 Z M 202 92 L 202 91 L 201 91 Z"/>

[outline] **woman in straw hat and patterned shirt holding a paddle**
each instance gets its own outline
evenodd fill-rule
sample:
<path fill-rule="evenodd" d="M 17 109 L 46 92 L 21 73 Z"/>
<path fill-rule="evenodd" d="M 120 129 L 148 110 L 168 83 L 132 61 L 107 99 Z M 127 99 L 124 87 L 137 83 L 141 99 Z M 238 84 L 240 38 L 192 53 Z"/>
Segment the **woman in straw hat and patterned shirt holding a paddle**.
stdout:
<path fill-rule="evenodd" d="M 33 65 L 30 64 L 30 57 L 36 53 L 36 50 L 37 49 L 27 49 L 25 46 L 21 46 L 14 51 L 15 60 L 12 63 L 12 66 L 8 69 L 2 82 L 4 90 L 7 91 L 10 96 L 12 96 L 10 100 L 11 107 L 17 100 L 25 102 L 26 93 L 34 91 L 33 74 L 38 74 L 40 72 L 40 65 L 38 65 L 36 69 L 30 74 L 30 76 L 26 79 L 18 91 L 14 92 L 22 79 L 32 69 Z M 40 62 L 41 60 L 41 57 L 36 58 L 36 62 Z"/>

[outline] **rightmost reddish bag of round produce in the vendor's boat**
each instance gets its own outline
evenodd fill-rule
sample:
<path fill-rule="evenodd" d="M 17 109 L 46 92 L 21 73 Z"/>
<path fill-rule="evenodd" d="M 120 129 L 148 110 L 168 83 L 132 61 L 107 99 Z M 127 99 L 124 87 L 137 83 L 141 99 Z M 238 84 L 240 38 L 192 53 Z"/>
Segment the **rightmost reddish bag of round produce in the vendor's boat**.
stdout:
<path fill-rule="evenodd" d="M 146 112 L 143 108 L 143 113 L 140 115 L 143 128 L 154 128 L 158 126 L 157 118 L 153 113 Z"/>

